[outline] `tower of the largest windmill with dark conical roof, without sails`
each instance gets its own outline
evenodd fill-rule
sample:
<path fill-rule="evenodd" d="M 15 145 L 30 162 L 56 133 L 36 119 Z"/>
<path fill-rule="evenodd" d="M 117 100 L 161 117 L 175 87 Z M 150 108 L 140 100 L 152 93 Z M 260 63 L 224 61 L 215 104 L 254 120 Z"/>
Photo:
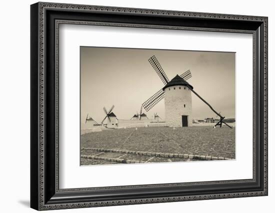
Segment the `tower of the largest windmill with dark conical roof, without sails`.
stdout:
<path fill-rule="evenodd" d="M 176 75 L 164 91 L 165 122 L 170 127 L 192 126 L 192 97 L 188 82 Z"/>

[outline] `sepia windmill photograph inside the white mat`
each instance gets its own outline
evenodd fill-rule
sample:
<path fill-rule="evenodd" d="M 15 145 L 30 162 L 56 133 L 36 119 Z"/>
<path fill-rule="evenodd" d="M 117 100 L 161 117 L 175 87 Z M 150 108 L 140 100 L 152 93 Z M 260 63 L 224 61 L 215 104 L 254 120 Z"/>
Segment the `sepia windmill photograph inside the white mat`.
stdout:
<path fill-rule="evenodd" d="M 80 165 L 235 159 L 235 52 L 80 46 Z"/>

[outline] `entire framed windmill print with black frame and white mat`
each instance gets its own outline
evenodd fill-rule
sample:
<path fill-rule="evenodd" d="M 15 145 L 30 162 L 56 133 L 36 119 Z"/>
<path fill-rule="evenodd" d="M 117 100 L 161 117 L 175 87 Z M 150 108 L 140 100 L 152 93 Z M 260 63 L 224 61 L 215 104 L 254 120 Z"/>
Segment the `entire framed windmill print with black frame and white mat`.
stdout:
<path fill-rule="evenodd" d="M 32 208 L 267 195 L 267 17 L 30 13 Z"/>

